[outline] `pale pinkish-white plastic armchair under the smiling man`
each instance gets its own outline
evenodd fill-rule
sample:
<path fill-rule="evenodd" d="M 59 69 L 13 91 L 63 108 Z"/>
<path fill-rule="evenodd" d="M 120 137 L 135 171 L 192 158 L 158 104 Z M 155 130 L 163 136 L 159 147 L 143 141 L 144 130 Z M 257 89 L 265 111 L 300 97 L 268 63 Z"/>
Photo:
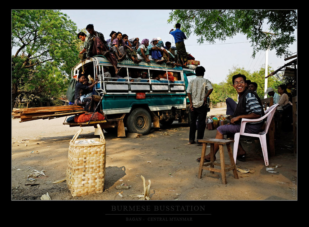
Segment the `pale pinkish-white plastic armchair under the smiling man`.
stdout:
<path fill-rule="evenodd" d="M 233 149 L 233 156 L 234 156 L 234 161 L 236 163 L 236 158 L 237 158 L 237 150 L 238 150 L 238 143 L 239 143 L 239 138 L 240 135 L 245 135 L 245 136 L 251 136 L 251 137 L 257 137 L 260 139 L 261 142 L 261 146 L 262 146 L 262 152 L 263 152 L 263 156 L 264 156 L 264 162 L 265 162 L 265 166 L 268 166 L 268 155 L 267 155 L 267 143 L 266 143 L 266 134 L 268 132 L 268 128 L 269 125 L 272 121 L 272 118 L 275 114 L 275 111 L 277 109 L 279 104 L 274 104 L 271 107 L 269 107 L 266 111 L 265 111 L 265 115 L 257 118 L 257 119 L 246 119 L 243 118 L 241 121 L 241 126 L 240 126 L 240 132 L 235 133 L 234 135 L 234 149 Z M 263 119 L 267 118 L 266 120 L 266 125 L 265 125 L 265 130 L 258 133 L 258 134 L 251 134 L 251 133 L 245 133 L 245 127 L 246 127 L 246 123 L 248 122 L 257 122 L 257 121 L 262 121 Z"/>

